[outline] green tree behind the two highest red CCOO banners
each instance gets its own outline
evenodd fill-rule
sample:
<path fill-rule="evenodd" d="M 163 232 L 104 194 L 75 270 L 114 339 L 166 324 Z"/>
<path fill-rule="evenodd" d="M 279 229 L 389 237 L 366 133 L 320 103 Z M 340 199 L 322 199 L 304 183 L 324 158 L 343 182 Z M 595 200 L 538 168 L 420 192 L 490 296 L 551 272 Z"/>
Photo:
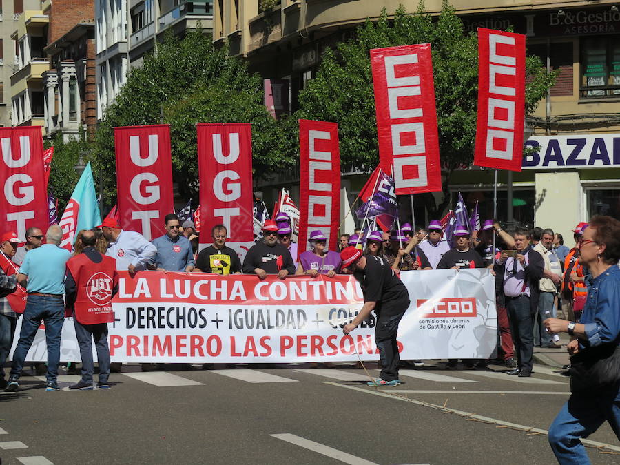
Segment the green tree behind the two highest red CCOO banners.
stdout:
<path fill-rule="evenodd" d="M 454 9 L 444 0 L 439 17 L 431 17 L 420 2 L 417 12 L 406 14 L 401 6 L 390 19 L 383 10 L 376 22 L 366 21 L 349 41 L 328 49 L 316 79 L 300 92 L 296 116 L 338 123 L 343 166 L 374 167 L 378 163 L 378 141 L 371 74 L 372 48 L 430 43 L 437 102 L 444 192 L 453 169 L 471 165 L 475 145 L 478 90 L 477 35 L 466 34 Z M 526 59 L 526 114 L 531 114 L 555 81 L 539 58 Z M 431 194 L 426 207 L 437 215 L 449 201 L 435 205 Z"/>

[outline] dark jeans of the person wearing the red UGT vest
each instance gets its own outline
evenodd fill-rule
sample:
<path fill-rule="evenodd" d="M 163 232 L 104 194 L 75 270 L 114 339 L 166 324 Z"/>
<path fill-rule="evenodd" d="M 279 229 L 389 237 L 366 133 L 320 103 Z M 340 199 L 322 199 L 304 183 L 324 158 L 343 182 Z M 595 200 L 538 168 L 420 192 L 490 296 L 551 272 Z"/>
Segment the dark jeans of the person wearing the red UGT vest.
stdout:
<path fill-rule="evenodd" d="M 99 362 L 99 382 L 107 383 L 110 376 L 110 349 L 107 347 L 107 323 L 81 324 L 76 318 L 75 335 L 80 346 L 82 359 L 82 382 L 92 384 L 94 363 L 92 361 L 92 340 L 94 339 Z"/>

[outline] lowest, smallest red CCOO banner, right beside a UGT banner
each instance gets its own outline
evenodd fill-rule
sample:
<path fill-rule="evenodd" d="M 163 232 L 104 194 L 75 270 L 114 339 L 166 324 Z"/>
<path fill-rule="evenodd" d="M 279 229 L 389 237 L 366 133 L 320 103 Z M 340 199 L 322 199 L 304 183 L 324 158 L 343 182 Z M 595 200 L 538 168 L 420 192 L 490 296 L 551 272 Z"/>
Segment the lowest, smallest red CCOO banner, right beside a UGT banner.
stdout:
<path fill-rule="evenodd" d="M 335 250 L 340 218 L 340 149 L 338 124 L 299 121 L 300 218 L 299 253 L 309 249 L 308 236 L 320 230 Z"/>

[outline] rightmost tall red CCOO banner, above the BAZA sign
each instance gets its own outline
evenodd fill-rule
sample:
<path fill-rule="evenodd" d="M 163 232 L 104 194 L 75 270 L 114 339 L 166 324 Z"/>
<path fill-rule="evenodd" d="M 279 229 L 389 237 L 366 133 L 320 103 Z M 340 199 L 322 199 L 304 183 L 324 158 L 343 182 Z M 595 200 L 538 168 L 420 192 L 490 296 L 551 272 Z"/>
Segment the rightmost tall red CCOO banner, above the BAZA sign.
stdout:
<path fill-rule="evenodd" d="M 525 36 L 478 28 L 478 50 L 474 165 L 521 171 Z"/>

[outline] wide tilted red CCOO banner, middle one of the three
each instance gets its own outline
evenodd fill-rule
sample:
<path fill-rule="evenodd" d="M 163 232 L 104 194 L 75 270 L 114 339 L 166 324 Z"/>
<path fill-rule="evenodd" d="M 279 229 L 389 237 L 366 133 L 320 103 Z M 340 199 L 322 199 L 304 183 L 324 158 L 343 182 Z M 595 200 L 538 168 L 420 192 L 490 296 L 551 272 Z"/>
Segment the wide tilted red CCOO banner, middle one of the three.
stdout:
<path fill-rule="evenodd" d="M 431 45 L 371 50 L 380 167 L 396 194 L 442 190 Z"/>

